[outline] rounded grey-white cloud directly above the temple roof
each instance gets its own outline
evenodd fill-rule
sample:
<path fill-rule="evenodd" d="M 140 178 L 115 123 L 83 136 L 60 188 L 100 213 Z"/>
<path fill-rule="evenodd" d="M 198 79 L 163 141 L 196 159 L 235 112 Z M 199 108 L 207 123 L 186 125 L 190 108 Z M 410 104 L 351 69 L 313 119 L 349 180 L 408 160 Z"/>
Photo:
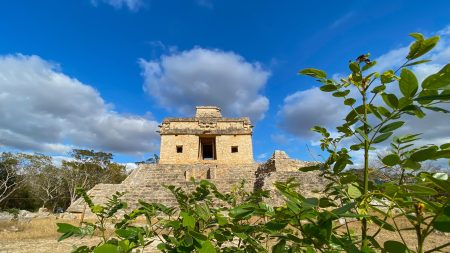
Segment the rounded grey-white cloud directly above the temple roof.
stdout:
<path fill-rule="evenodd" d="M 269 107 L 261 91 L 270 72 L 233 52 L 194 48 L 139 63 L 144 89 L 178 113 L 192 115 L 196 105 L 217 105 L 226 115 L 260 120 Z"/>

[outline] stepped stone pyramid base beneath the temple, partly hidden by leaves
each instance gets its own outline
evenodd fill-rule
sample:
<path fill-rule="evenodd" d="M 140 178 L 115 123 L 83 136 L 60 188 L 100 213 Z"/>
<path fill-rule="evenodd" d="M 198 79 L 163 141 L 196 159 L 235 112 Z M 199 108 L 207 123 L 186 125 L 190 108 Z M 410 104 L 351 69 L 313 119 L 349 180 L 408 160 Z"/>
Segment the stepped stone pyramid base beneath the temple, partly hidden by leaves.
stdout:
<path fill-rule="evenodd" d="M 265 201 L 280 205 L 283 204 L 283 198 L 275 190 L 274 183 L 290 178 L 299 183 L 299 191 L 305 197 L 320 196 L 327 181 L 317 171 L 298 171 L 300 167 L 309 164 L 275 154 L 262 164 L 142 164 L 121 184 L 99 184 L 88 194 L 92 196 L 94 203 L 105 203 L 116 191 L 126 192 L 122 199 L 129 204 L 130 209 L 137 207 L 138 200 L 175 206 L 175 199 L 163 185 L 191 190 L 195 186 L 191 181 L 194 178 L 197 181 L 210 180 L 221 192 L 230 192 L 244 181 L 245 190 L 269 190 L 271 197 Z M 288 167 L 282 167 L 285 165 Z M 84 206 L 84 201 L 79 199 L 68 211 L 82 212 Z"/>

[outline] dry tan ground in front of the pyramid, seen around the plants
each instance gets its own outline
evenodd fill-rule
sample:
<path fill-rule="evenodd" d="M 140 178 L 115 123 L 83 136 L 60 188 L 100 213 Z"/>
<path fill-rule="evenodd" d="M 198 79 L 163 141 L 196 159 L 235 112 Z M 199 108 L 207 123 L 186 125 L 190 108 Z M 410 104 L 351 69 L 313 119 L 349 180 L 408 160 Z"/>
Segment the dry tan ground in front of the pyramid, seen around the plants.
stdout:
<path fill-rule="evenodd" d="M 57 242 L 60 236 L 56 232 L 56 223 L 65 222 L 77 224 L 77 220 L 59 220 L 55 218 L 35 219 L 29 222 L 0 222 L 0 252 L 11 253 L 48 253 L 48 252 L 71 252 L 80 245 L 95 245 L 100 242 L 98 237 L 92 238 L 69 238 Z M 404 224 L 403 224 L 404 225 Z M 400 226 L 403 226 L 400 224 Z M 351 230 L 358 231 L 359 225 L 349 223 Z M 371 227 L 369 232 L 373 233 L 376 227 Z M 369 234 L 371 234 L 369 233 Z M 404 240 L 411 249 L 415 248 L 414 231 L 405 231 Z M 378 242 L 383 245 L 387 240 L 401 240 L 398 234 L 383 230 L 377 237 Z M 427 240 L 426 249 L 431 249 L 450 241 L 449 235 L 432 234 Z M 149 252 L 153 250 L 149 249 Z M 154 251 L 153 251 L 154 252 Z M 450 247 L 443 249 L 450 252 Z"/>

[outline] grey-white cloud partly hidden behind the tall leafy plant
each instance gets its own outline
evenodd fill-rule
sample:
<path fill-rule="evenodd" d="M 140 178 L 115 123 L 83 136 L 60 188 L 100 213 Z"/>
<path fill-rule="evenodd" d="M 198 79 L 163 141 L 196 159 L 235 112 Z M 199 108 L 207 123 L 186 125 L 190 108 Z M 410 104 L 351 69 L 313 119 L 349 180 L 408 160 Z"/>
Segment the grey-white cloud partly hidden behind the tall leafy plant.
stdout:
<path fill-rule="evenodd" d="M 441 41 L 438 46 L 426 56 L 432 62 L 414 66 L 412 69 L 416 73 L 419 82 L 430 74 L 439 71 L 450 59 L 450 26 L 438 34 L 441 35 Z M 409 46 L 393 49 L 381 56 L 376 61 L 374 70 L 383 72 L 387 69 L 396 68 L 404 63 L 405 56 L 408 54 Z M 339 76 L 339 74 L 336 74 Z M 400 94 L 397 84 L 388 86 L 390 93 Z M 378 104 L 383 101 L 378 98 L 375 100 Z M 450 110 L 450 105 L 441 106 Z M 345 117 L 347 108 L 343 106 L 341 99 L 336 99 L 329 93 L 321 92 L 314 87 L 304 91 L 298 91 L 287 96 L 278 112 L 281 117 L 281 127 L 287 132 L 296 136 L 307 138 L 312 137 L 309 128 L 313 125 L 321 125 L 333 130 L 339 125 Z M 420 144 L 435 143 L 441 144 L 450 142 L 449 115 L 426 111 L 425 119 L 417 119 L 412 116 L 406 116 L 405 127 L 398 134 L 423 133 Z M 380 148 L 383 148 L 380 146 Z"/>

